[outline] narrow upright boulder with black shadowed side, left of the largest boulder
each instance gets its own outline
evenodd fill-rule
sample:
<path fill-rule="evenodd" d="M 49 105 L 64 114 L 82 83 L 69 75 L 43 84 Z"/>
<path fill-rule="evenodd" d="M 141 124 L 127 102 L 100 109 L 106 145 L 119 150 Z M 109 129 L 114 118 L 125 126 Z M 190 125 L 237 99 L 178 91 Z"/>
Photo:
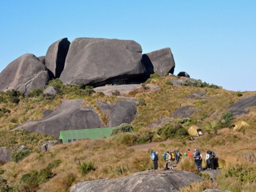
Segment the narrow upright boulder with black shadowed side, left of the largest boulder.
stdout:
<path fill-rule="evenodd" d="M 48 49 L 45 56 L 45 65 L 49 70 L 51 78 L 59 78 L 63 71 L 70 42 L 62 38 L 54 42 Z"/>

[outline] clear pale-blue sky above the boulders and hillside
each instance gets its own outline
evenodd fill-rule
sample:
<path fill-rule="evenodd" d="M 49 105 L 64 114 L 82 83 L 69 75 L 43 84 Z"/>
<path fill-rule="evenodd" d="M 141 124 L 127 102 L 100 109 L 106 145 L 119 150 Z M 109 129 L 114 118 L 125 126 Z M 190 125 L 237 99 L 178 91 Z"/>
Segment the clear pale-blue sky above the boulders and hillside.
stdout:
<path fill-rule="evenodd" d="M 67 37 L 170 47 L 174 74 L 232 91 L 256 91 L 256 1 L 2 1 L 0 72 L 22 54 L 44 56 Z"/>

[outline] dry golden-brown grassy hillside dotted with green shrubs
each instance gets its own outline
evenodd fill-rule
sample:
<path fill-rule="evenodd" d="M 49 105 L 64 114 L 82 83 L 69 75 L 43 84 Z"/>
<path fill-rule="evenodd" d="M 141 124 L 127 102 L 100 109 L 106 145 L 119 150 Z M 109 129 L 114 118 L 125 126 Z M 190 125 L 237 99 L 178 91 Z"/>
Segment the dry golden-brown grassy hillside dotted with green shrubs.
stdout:
<path fill-rule="evenodd" d="M 0 180 L 2 180 L 0 189 L 68 191 L 72 184 L 83 180 L 118 178 L 152 169 L 153 164 L 149 157 L 151 149 L 134 150 L 131 146 L 164 141 L 168 138 L 167 143 L 159 144 L 154 148 L 160 155 L 171 148 L 179 149 L 180 152 L 185 152 L 188 148 L 200 148 L 202 152 L 208 149 L 214 150 L 218 156 L 219 167 L 223 170 L 217 179 L 218 188 L 231 191 L 253 191 L 256 187 L 255 110 L 248 115 L 230 119 L 231 122 L 245 120 L 250 124 L 240 132 L 228 128 L 227 122 L 223 121 L 223 115 L 227 112 L 225 111 L 227 106 L 255 95 L 256 92 L 231 92 L 209 84 L 204 84 L 204 87 L 173 86 L 170 83 L 171 79 L 177 79 L 177 77 L 148 79 L 147 83 L 157 84 L 159 89 L 149 90 L 147 86 L 143 86 L 140 90 L 124 95 L 140 101 L 138 116 L 131 124 L 134 132 L 117 134 L 104 140 L 82 140 L 68 145 L 57 145 L 49 152 L 40 152 L 38 147 L 43 141 L 56 138 L 47 134 L 28 131 L 10 132 L 10 130 L 28 119 L 42 118 L 42 111 L 56 109 L 61 99 L 84 98 L 84 105 L 95 108 L 100 118 L 106 123 L 108 116 L 100 112 L 95 102 L 101 100 L 111 103 L 118 98 L 114 95 L 110 97 L 102 93 L 93 93 L 92 88 L 83 85 L 63 85 L 58 79 L 51 81 L 48 85 L 58 90 L 56 97 L 42 95 L 39 90 L 31 93 L 29 97 L 22 97 L 17 92 L 1 92 L 0 147 L 17 148 L 20 145 L 26 145 L 29 152 L 19 154 L 21 160 L 18 158 L 17 163 L 14 161 L 0 163 Z M 212 99 L 186 98 L 187 95 L 196 92 L 205 92 L 204 96 Z M 182 106 L 197 106 L 200 110 L 189 118 L 172 119 L 161 127 L 147 128 L 149 124 L 160 118 L 171 117 L 174 111 Z M 186 134 L 177 134 L 177 132 L 173 135 L 169 134 L 170 131 L 176 130 L 177 125 L 188 129 L 192 124 L 202 128 L 205 136 L 189 141 Z M 22 159 L 23 156 L 26 157 Z M 204 153 L 203 157 L 205 157 Z M 163 167 L 164 161 L 160 157 L 159 168 Z M 193 162 L 186 162 L 185 159 L 182 159 L 177 168 L 196 172 Z M 212 182 L 207 180 L 182 190 L 200 191 L 212 186 Z"/>

